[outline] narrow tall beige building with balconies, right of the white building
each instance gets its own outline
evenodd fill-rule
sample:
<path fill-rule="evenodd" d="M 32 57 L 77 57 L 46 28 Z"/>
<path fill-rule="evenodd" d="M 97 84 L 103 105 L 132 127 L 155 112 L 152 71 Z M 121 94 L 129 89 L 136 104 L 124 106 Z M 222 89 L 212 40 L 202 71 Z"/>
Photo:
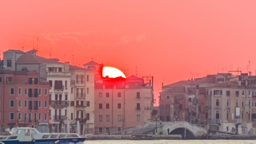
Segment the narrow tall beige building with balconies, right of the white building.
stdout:
<path fill-rule="evenodd" d="M 71 132 L 80 122 L 80 134 L 94 134 L 94 71 L 70 65 L 71 70 Z"/>

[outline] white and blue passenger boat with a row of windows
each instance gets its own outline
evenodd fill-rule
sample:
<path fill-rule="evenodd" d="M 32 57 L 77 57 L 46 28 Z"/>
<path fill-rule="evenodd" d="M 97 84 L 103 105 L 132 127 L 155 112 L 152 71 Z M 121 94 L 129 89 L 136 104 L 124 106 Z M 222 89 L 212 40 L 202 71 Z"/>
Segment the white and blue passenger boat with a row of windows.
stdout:
<path fill-rule="evenodd" d="M 41 133 L 36 128 L 12 128 L 0 133 L 0 144 L 77 144 L 85 139 L 77 133 Z"/>

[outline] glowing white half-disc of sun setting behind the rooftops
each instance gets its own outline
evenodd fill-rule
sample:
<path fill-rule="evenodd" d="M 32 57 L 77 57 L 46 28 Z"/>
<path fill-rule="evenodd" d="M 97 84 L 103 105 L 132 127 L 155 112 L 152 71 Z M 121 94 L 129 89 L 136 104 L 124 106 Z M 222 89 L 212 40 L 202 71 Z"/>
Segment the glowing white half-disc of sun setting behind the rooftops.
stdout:
<path fill-rule="evenodd" d="M 103 71 L 102 71 L 102 76 L 103 77 L 112 77 L 112 78 L 115 78 L 115 77 L 125 77 L 125 74 L 123 74 L 122 71 L 120 71 L 119 69 L 115 68 L 115 67 L 103 67 Z"/>

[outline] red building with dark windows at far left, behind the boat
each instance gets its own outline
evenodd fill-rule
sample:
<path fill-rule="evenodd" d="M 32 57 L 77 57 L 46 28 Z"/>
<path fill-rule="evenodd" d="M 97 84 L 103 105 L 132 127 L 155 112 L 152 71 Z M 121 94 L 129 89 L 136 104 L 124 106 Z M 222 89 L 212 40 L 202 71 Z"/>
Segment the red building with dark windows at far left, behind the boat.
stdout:
<path fill-rule="evenodd" d="M 32 127 L 49 128 L 49 84 L 35 70 L 0 70 L 0 131 Z"/>

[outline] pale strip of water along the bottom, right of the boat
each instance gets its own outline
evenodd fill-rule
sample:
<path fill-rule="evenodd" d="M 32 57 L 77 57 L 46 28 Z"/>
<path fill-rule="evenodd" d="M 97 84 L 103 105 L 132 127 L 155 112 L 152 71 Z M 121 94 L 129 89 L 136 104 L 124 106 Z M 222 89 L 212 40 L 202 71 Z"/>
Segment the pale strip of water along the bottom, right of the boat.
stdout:
<path fill-rule="evenodd" d="M 256 140 L 104 140 L 85 141 L 83 144 L 256 144 Z"/>

